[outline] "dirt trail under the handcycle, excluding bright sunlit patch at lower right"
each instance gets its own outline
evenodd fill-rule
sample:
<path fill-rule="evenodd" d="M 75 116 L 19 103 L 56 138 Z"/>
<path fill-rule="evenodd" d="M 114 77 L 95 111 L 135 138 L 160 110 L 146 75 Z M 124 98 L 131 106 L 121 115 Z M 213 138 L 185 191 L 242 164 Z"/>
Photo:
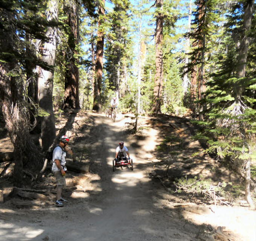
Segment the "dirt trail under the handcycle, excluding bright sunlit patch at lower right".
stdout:
<path fill-rule="evenodd" d="M 127 118 L 117 118 L 115 123 L 103 115 L 93 114 L 93 118 L 93 188 L 74 192 L 63 208 L 1 209 L 8 218 L 0 217 L 0 241 L 198 241 L 200 222 L 195 225 L 187 212 L 170 208 L 170 200 L 178 202 L 178 198 L 149 178 L 152 164 L 158 162 L 152 153 L 159 144 L 158 130 L 149 128 L 142 140 L 135 141 L 125 134 Z M 134 160 L 133 171 L 112 171 L 120 140 Z M 200 217 L 207 223 L 206 215 Z"/>

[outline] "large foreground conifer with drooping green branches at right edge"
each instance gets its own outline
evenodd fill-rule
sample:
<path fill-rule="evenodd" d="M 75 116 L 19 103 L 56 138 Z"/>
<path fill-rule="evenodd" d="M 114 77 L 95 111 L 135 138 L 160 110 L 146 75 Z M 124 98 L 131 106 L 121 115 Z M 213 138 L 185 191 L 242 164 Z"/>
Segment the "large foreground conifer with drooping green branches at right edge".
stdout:
<path fill-rule="evenodd" d="M 202 100 L 207 103 L 207 121 L 201 138 L 209 144 L 208 151 L 216 152 L 221 159 L 245 179 L 245 196 L 251 205 L 250 161 L 256 132 L 256 111 L 253 93 L 256 80 L 247 75 L 248 36 L 253 18 L 254 1 L 232 5 L 225 24 L 225 36 L 219 49 L 219 71 L 213 74 L 210 88 Z M 238 47 L 239 46 L 239 47 Z M 248 71 L 250 73 L 250 71 Z"/>

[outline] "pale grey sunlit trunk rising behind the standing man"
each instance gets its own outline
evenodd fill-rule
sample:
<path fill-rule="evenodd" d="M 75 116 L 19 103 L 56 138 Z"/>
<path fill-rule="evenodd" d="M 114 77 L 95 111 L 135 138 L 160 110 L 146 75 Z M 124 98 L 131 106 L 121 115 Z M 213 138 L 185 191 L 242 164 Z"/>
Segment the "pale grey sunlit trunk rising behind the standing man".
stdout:
<path fill-rule="evenodd" d="M 49 1 L 47 10 L 47 20 L 58 19 L 58 0 Z M 53 74 L 54 74 L 54 62 L 56 57 L 56 27 L 47 27 L 46 37 L 49 42 L 45 42 L 41 48 L 42 61 L 45 62 L 49 68 L 39 68 L 38 70 L 38 100 L 39 106 L 47 111 L 50 115 L 41 117 L 41 138 L 43 151 L 53 143 L 55 132 L 55 118 L 53 114 Z"/>

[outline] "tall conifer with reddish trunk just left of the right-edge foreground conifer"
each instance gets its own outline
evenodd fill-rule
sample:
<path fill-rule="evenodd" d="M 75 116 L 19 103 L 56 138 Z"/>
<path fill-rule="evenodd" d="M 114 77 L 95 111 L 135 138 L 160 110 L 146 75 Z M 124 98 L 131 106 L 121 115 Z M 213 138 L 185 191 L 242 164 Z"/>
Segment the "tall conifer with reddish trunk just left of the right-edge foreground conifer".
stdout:
<path fill-rule="evenodd" d="M 219 21 L 219 0 L 197 0 L 195 4 L 197 9 L 192 21 L 192 27 L 188 36 L 193 39 L 190 53 L 190 63 L 187 65 L 191 73 L 190 109 L 199 114 L 200 120 L 203 120 L 203 112 L 206 106 L 201 102 L 200 106 L 196 106 L 195 102 L 204 98 L 206 91 L 206 55 L 209 53 L 208 43 L 213 38 L 216 30 L 216 23 Z"/>

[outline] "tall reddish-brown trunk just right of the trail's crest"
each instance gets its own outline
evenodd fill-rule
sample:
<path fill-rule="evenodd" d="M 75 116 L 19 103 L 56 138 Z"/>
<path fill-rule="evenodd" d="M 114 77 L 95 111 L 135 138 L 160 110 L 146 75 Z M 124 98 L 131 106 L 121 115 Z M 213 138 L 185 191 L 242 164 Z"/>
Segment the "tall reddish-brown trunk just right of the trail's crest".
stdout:
<path fill-rule="evenodd" d="M 158 9 L 163 8 L 163 0 L 156 0 Z M 163 89 L 163 14 L 157 14 L 155 31 L 155 85 L 154 85 L 154 103 L 152 113 L 161 113 L 162 89 Z"/>

